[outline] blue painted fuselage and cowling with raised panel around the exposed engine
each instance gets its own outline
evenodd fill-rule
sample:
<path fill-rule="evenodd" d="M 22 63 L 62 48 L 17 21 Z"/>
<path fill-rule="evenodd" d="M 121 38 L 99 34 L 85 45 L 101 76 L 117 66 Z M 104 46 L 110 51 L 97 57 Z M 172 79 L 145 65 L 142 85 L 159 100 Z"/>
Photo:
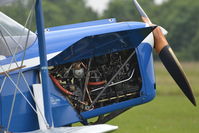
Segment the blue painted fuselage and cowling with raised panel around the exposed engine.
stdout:
<path fill-rule="evenodd" d="M 59 87 L 54 85 L 49 78 L 51 93 L 51 100 L 49 102 L 51 102 L 52 105 L 54 125 L 59 127 L 70 125 L 75 122 L 82 122 L 95 116 L 136 106 L 152 100 L 155 96 L 152 47 L 147 43 L 140 43 L 153 29 L 154 27 L 145 27 L 144 23 L 139 22 L 116 23 L 107 20 L 49 28 L 45 33 L 47 53 L 60 52 L 48 61 L 50 66 L 68 66 L 72 65 L 73 62 L 88 62 L 90 58 L 101 58 L 104 55 L 109 58 L 118 53 L 119 55 L 121 54 L 119 57 L 125 57 L 125 61 L 129 56 L 127 53 L 135 51 L 135 55 L 130 62 L 132 62 L 132 66 L 135 67 L 137 79 L 132 81 L 132 83 L 136 86 L 136 82 L 140 82 L 136 95 L 122 98 L 118 102 L 112 101 L 112 103 L 107 103 L 106 101 L 106 103 L 103 103 L 104 106 L 96 105 L 96 108 L 86 110 L 77 108 L 74 104 L 74 100 L 71 100 L 71 97 L 66 98 L 66 95 L 63 95 L 63 93 L 59 91 Z M 23 53 L 16 55 L 17 61 L 21 60 L 22 55 Z M 25 60 L 35 57 L 38 57 L 37 41 L 27 49 Z M 12 57 L 8 57 L 6 60 L 0 61 L 0 64 L 5 65 L 9 63 L 11 58 Z M 23 73 L 31 89 L 32 84 L 39 83 L 39 69 L 37 65 L 23 69 Z M 52 72 L 52 74 L 54 73 Z M 11 78 L 13 78 L 15 82 L 17 82 L 17 77 L 18 71 L 11 73 Z M 3 84 L 4 78 L 5 75 L 0 76 L 0 85 Z M 28 87 L 25 87 L 25 84 L 23 78 L 20 77 L 19 88 L 30 103 L 35 106 L 34 101 L 30 96 L 30 92 L 28 91 Z M 15 88 L 16 87 L 11 81 L 6 79 L 2 93 L 0 93 L 0 125 L 4 129 L 8 126 Z M 94 97 L 97 94 L 98 92 L 93 93 L 91 97 Z M 125 95 L 127 94 L 125 93 Z M 111 96 L 110 98 L 114 98 L 114 96 Z M 103 101 L 106 99 L 107 97 L 104 97 L 104 99 L 101 100 Z M 24 132 L 36 130 L 38 128 L 36 113 L 17 91 L 16 103 L 9 131 Z"/>

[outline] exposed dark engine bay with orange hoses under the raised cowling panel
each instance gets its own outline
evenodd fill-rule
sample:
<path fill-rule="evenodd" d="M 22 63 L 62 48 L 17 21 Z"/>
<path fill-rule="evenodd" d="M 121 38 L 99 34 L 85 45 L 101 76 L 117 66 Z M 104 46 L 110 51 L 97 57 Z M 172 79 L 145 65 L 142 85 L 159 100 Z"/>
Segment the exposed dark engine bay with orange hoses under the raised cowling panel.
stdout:
<path fill-rule="evenodd" d="M 49 74 L 79 112 L 139 97 L 142 87 L 135 49 L 51 66 Z"/>

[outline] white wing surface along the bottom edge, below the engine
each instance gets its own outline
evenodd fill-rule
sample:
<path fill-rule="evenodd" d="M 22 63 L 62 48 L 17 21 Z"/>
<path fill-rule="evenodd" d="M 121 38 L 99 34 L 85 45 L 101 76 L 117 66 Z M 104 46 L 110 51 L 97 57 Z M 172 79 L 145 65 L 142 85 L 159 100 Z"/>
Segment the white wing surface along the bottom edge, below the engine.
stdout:
<path fill-rule="evenodd" d="M 106 133 L 118 129 L 118 126 L 108 124 L 99 124 L 91 126 L 78 126 L 78 127 L 60 127 L 48 130 L 37 130 L 26 133 Z"/>

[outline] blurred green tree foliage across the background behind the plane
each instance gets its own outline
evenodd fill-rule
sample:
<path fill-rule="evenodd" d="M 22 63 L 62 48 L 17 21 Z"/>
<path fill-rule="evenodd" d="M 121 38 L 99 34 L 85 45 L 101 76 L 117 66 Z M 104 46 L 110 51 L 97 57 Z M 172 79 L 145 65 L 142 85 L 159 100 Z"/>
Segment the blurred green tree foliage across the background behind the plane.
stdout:
<path fill-rule="evenodd" d="M 24 24 L 32 1 L 18 0 L 12 5 L 0 7 L 0 11 Z M 161 5 L 156 5 L 153 0 L 138 1 L 153 23 L 169 31 L 167 38 L 180 60 L 199 60 L 198 0 L 167 0 Z M 85 6 L 85 2 L 86 0 L 43 0 L 45 26 L 110 17 L 115 17 L 118 21 L 140 21 L 132 0 L 111 0 L 102 16 Z M 35 30 L 35 27 L 32 26 L 32 29 Z"/>

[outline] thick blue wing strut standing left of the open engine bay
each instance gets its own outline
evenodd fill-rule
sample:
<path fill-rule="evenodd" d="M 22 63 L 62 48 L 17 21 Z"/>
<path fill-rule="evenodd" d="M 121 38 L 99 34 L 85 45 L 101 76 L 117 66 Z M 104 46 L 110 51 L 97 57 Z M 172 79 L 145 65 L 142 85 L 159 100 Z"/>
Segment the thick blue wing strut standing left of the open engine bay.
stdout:
<path fill-rule="evenodd" d="M 44 35 L 42 0 L 36 0 L 35 13 L 36 13 L 36 25 L 38 33 L 37 36 L 38 36 L 39 55 L 40 55 L 40 71 L 41 71 L 42 88 L 44 94 L 45 117 L 49 124 L 49 127 L 52 127 L 52 110 L 50 105 L 50 92 L 48 86 L 48 63 L 46 57 L 46 42 Z"/>

